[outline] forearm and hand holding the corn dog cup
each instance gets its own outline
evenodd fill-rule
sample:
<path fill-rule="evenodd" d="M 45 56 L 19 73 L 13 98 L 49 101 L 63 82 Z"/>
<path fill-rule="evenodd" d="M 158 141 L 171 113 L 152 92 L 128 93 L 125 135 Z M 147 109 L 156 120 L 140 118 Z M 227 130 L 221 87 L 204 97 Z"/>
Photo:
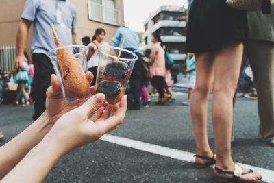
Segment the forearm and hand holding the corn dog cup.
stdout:
<path fill-rule="evenodd" d="M 90 71 L 86 73 L 86 78 L 89 82 L 92 82 L 93 75 Z M 60 88 L 58 78 L 55 75 L 51 75 L 51 87 L 47 89 L 47 110 L 21 134 L 18 134 L 12 141 L 0 147 L 0 180 L 22 160 L 30 149 L 42 140 L 51 130 L 55 121 L 66 112 L 82 105 L 83 102 L 66 103 Z M 95 93 L 94 87 L 90 90 L 92 93 Z"/>

